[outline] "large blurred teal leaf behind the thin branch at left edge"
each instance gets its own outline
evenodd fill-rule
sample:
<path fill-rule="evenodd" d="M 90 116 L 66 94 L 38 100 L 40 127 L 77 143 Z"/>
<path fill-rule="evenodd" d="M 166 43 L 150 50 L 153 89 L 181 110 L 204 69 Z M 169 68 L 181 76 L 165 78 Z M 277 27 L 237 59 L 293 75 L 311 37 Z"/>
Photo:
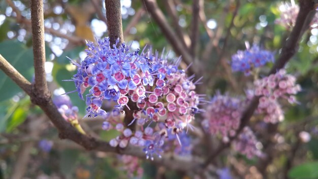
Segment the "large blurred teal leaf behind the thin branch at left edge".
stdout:
<path fill-rule="evenodd" d="M 15 67 L 26 79 L 31 80 L 34 74 L 33 51 L 18 41 L 4 41 L 0 43 L 0 54 Z M 12 98 L 22 92 L 4 72 L 0 71 L 0 102 Z"/>

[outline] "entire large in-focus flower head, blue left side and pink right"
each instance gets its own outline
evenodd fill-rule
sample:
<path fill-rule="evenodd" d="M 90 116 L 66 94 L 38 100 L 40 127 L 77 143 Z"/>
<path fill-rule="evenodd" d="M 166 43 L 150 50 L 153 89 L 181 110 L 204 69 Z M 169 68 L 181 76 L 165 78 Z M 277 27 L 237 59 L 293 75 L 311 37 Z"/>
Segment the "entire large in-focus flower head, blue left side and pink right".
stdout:
<path fill-rule="evenodd" d="M 88 117 L 104 116 L 104 130 L 116 129 L 121 134 L 110 140 L 110 145 L 126 147 L 128 143 L 144 147 L 147 158 L 153 154 L 161 157 L 168 135 L 175 135 L 180 145 L 179 133 L 192 128 L 190 122 L 202 110 L 198 108 L 204 95 L 196 94 L 199 82 L 194 76 L 187 77 L 185 70 L 178 69 L 181 58 L 169 61 L 166 56 L 152 54 L 151 48 L 129 52 L 123 44 L 109 44 L 109 38 L 99 40 L 98 45 L 87 43 L 87 56 L 78 67 L 73 81 L 83 99 L 86 88 Z M 125 106 L 135 103 L 133 121 L 137 129 L 132 131 L 122 120 L 111 120 L 101 109 L 104 100 L 118 103 L 110 115 L 118 115 Z"/>

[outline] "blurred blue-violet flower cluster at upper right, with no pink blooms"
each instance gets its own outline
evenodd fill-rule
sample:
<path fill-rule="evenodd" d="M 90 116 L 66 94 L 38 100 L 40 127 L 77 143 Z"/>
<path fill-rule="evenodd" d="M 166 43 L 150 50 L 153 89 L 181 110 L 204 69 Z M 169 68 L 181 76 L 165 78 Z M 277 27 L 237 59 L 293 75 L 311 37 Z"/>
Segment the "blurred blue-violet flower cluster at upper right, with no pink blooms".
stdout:
<path fill-rule="evenodd" d="M 247 47 L 244 51 L 238 50 L 236 54 L 232 55 L 231 67 L 234 72 L 241 71 L 248 76 L 254 68 L 262 67 L 269 62 L 274 62 L 273 52 L 263 50 L 253 44 L 251 48 Z"/>

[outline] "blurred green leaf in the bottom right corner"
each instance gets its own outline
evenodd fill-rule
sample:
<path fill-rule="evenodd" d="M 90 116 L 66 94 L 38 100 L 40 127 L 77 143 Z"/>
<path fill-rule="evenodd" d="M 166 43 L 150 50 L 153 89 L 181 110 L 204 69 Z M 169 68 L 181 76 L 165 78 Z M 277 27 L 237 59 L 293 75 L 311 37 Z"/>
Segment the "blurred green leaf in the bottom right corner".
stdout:
<path fill-rule="evenodd" d="M 318 178 L 318 161 L 303 163 L 293 167 L 289 172 L 290 178 Z"/>

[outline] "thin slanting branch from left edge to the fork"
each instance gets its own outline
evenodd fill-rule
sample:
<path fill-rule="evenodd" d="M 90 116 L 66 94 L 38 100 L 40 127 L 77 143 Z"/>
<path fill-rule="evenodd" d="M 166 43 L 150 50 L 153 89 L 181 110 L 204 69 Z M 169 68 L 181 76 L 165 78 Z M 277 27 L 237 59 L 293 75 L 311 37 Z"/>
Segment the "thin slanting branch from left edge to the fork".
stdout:
<path fill-rule="evenodd" d="M 24 78 L 6 59 L 0 54 L 0 69 L 8 75 L 22 90 L 27 94 L 31 95 L 32 86 L 31 83 Z"/>

